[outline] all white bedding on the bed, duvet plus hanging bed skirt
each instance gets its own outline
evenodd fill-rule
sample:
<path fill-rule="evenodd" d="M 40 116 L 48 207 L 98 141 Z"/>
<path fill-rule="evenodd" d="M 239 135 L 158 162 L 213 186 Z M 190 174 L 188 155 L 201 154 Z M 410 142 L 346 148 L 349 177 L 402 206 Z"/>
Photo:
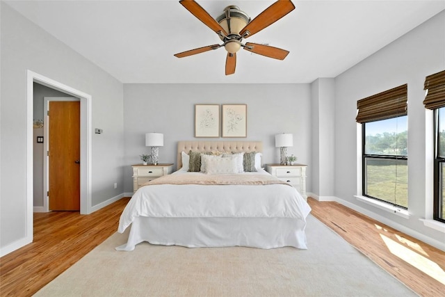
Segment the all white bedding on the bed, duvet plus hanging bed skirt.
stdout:
<path fill-rule="evenodd" d="M 197 178 L 202 175 L 186 171 L 173 174 L 197 175 Z M 268 175 L 268 172 L 239 174 Z M 284 184 L 143 186 L 120 216 L 118 232 L 123 233 L 133 225 L 128 243 L 117 249 L 133 250 L 142 241 L 188 247 L 306 248 L 305 226 L 310 211 L 296 188 Z M 177 225 L 170 225 L 172 222 Z M 241 229 L 234 234 L 237 222 Z M 210 225 L 213 223 L 218 227 Z"/>

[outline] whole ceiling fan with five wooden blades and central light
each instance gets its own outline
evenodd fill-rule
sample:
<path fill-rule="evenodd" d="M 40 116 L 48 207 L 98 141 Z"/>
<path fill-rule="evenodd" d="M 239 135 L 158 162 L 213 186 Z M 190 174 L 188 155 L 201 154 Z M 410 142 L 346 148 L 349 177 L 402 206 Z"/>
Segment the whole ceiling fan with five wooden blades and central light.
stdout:
<path fill-rule="evenodd" d="M 183 51 L 179 54 L 175 54 L 178 58 L 184 58 L 186 56 L 201 54 L 205 51 L 210 51 L 211 49 L 225 47 L 225 50 L 227 51 L 225 75 L 229 75 L 235 73 L 236 52 L 241 49 L 241 47 L 246 51 L 252 51 L 255 54 L 278 60 L 284 60 L 287 54 L 289 54 L 289 51 L 277 47 L 270 47 L 268 45 L 252 42 L 246 42 L 245 45 L 243 45 L 241 41 L 243 38 L 249 38 L 267 26 L 270 26 L 270 24 L 273 24 L 278 19 L 281 19 L 284 15 L 287 15 L 294 10 L 295 6 L 290 0 L 276 1 L 252 20 L 246 13 L 240 10 L 238 6 L 234 5 L 227 6 L 221 15 L 216 19 L 213 19 L 213 17 L 211 17 L 211 15 L 209 15 L 209 13 L 207 13 L 207 11 L 194 0 L 181 0 L 179 3 L 195 15 L 195 17 L 200 19 L 201 22 L 215 31 L 224 43 L 223 45 L 208 45 L 207 47 L 199 47 L 197 49 Z"/>

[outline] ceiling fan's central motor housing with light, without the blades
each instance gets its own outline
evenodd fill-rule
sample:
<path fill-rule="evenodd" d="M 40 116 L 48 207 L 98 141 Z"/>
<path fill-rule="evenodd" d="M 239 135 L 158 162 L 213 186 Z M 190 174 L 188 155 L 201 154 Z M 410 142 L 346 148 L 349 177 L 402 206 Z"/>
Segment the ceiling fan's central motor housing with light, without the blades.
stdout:
<path fill-rule="evenodd" d="M 250 17 L 243 12 L 238 6 L 231 5 L 224 8 L 224 12 L 216 18 L 223 29 L 227 32 L 227 36 L 220 35 L 223 40 L 224 47 L 229 53 L 236 53 L 241 49 L 241 35 L 239 32 L 250 22 Z"/>

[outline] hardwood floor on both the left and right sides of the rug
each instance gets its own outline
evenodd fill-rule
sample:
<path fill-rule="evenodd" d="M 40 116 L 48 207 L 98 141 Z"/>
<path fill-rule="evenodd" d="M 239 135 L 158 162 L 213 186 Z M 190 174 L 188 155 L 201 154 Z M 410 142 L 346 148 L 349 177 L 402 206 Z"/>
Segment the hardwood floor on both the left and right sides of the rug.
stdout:
<path fill-rule="evenodd" d="M 32 296 L 118 229 L 123 198 L 88 216 L 34 214 L 34 241 L 0 258 L 0 296 Z M 445 253 L 337 202 L 308 199 L 312 214 L 421 296 L 443 296 Z M 410 263 L 391 253 L 407 253 Z M 415 257 L 419 259 L 415 259 Z M 414 259 L 414 260 L 413 260 Z M 414 262 L 416 263 L 414 263 Z M 414 264 L 413 264 L 414 263 Z"/>

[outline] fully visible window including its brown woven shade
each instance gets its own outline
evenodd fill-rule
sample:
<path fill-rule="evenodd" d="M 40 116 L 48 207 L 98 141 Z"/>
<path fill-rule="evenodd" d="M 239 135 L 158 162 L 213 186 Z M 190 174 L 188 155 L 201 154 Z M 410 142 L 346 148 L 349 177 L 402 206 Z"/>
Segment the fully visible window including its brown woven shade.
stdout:
<path fill-rule="evenodd" d="M 357 101 L 362 195 L 408 208 L 407 85 Z"/>

